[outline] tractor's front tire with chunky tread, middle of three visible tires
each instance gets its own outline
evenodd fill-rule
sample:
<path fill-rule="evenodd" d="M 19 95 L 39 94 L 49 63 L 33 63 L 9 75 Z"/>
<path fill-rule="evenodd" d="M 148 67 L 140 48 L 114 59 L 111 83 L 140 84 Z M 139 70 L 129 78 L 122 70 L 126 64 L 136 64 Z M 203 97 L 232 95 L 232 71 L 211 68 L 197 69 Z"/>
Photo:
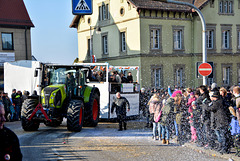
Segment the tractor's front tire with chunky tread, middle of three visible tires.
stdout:
<path fill-rule="evenodd" d="M 84 104 L 81 100 L 71 100 L 67 110 L 67 129 L 79 132 L 83 127 Z"/>

